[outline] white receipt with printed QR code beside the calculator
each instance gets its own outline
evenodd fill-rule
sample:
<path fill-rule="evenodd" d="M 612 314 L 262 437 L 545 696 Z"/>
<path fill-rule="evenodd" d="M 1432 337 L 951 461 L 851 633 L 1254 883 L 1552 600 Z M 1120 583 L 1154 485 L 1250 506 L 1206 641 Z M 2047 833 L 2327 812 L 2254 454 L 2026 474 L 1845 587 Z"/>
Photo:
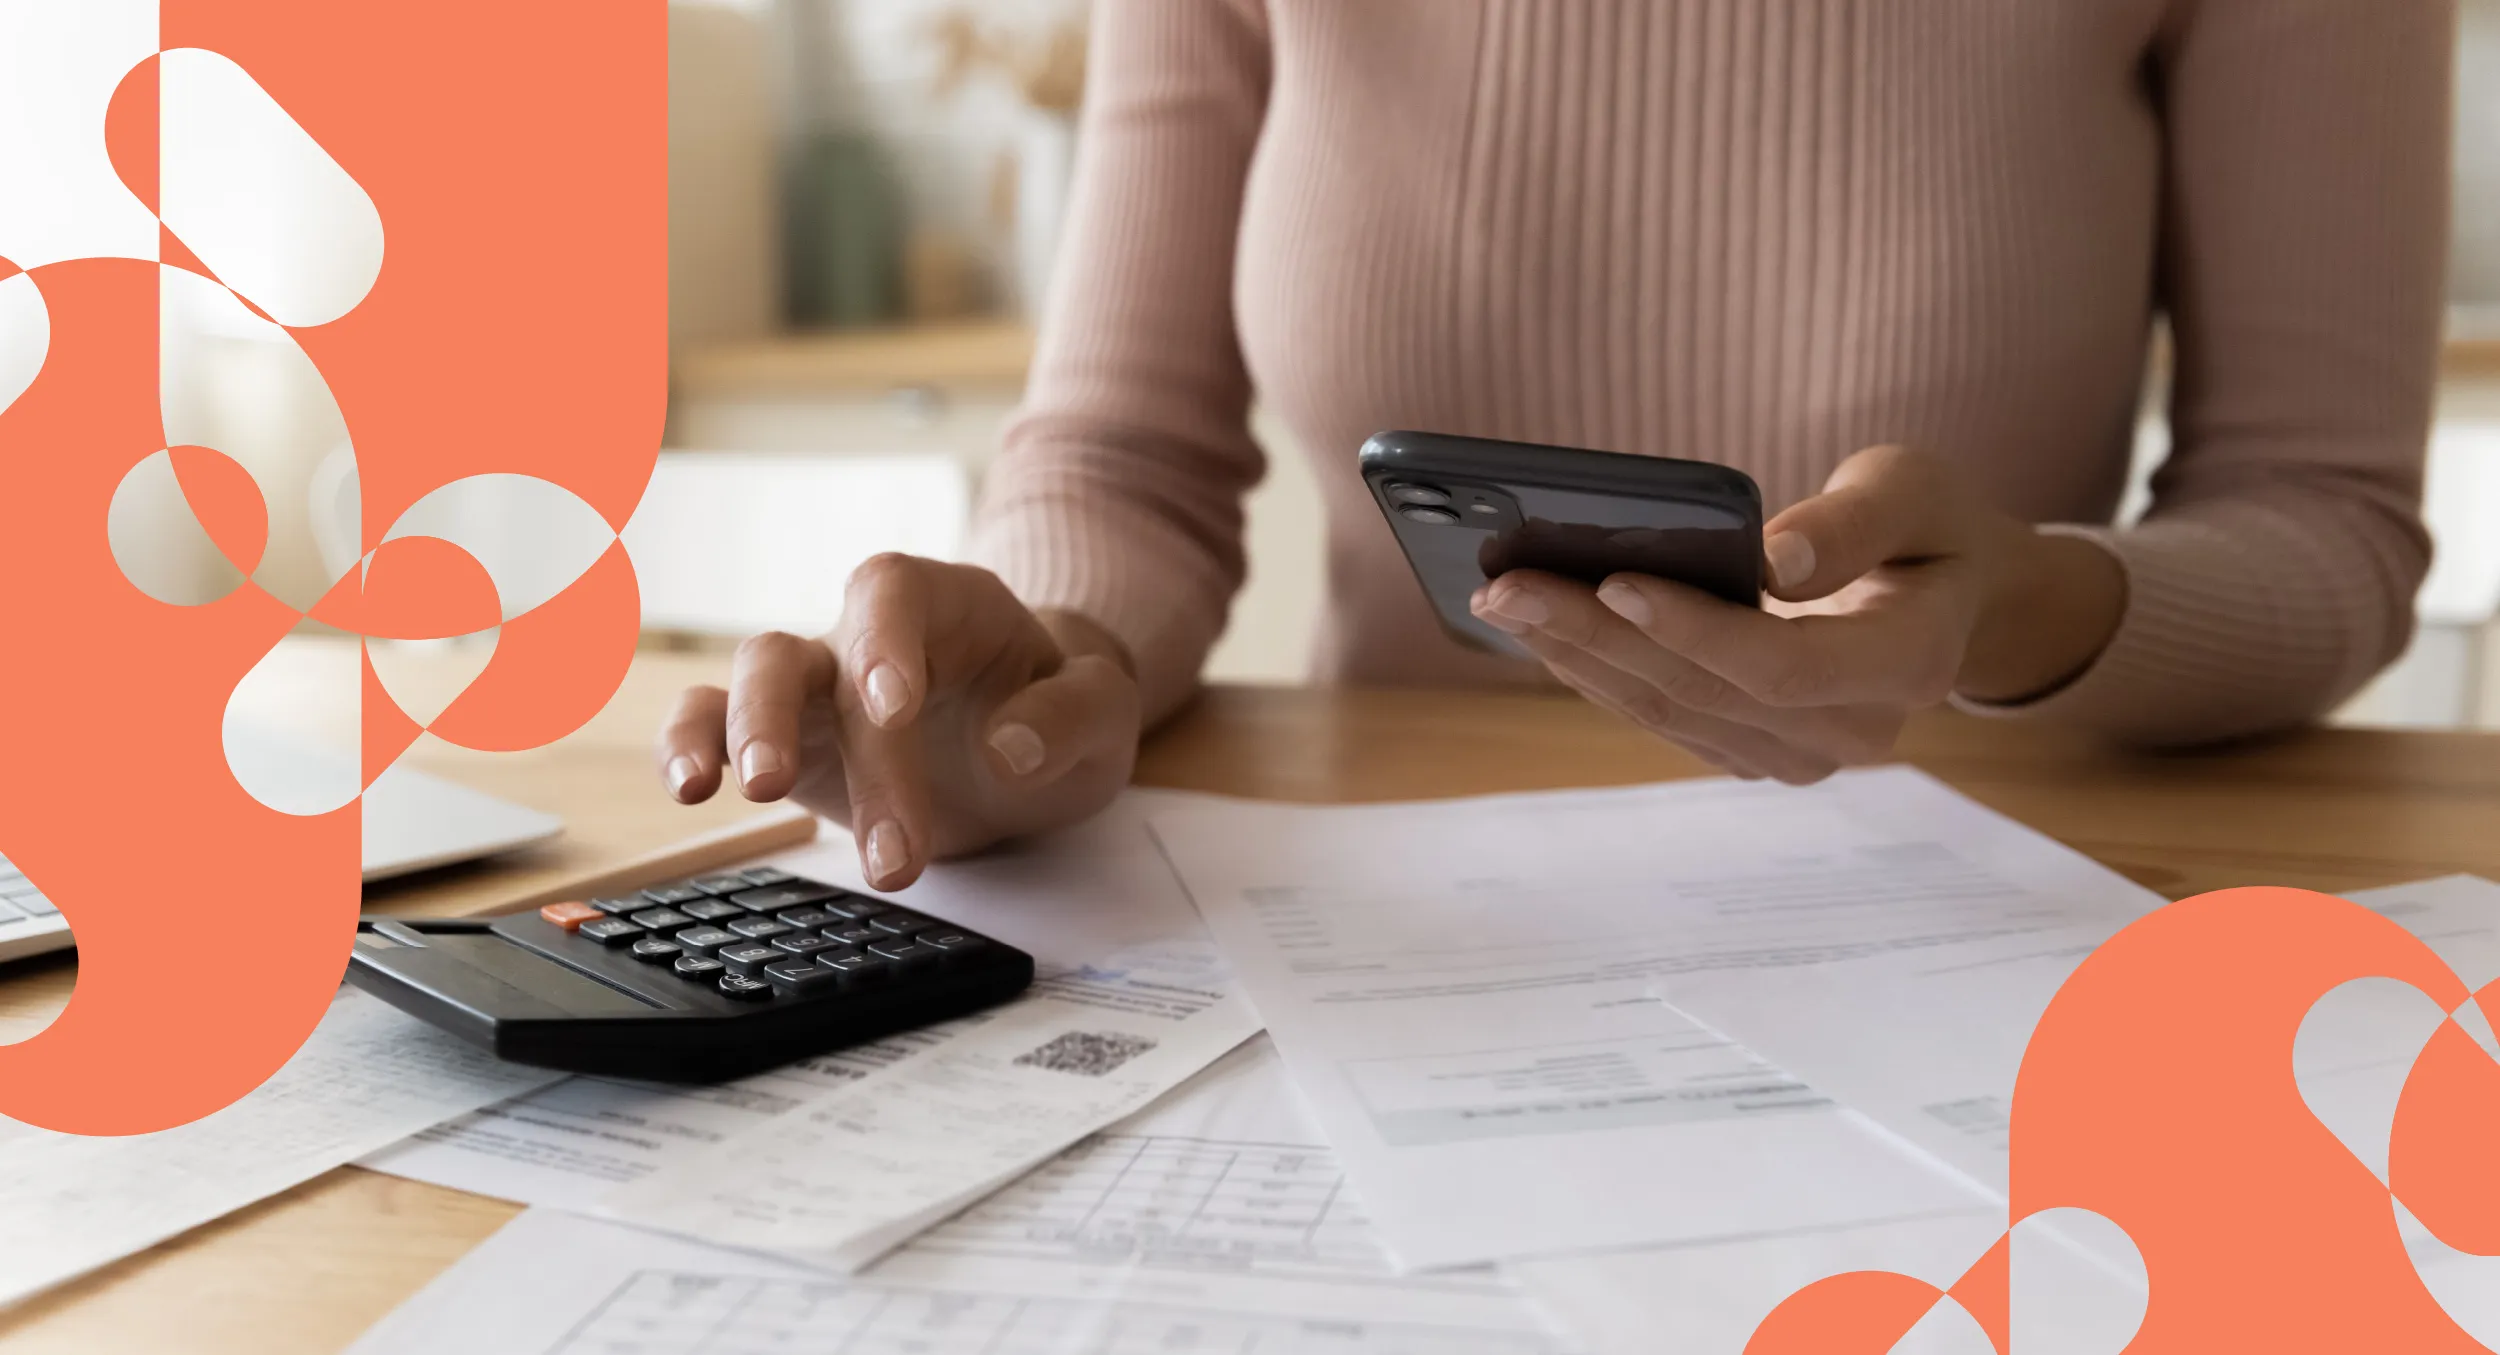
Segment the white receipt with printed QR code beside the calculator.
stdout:
<path fill-rule="evenodd" d="M 1258 1032 L 1200 940 L 1042 978 L 915 1060 L 680 1158 L 600 1212 L 858 1270 Z"/>

